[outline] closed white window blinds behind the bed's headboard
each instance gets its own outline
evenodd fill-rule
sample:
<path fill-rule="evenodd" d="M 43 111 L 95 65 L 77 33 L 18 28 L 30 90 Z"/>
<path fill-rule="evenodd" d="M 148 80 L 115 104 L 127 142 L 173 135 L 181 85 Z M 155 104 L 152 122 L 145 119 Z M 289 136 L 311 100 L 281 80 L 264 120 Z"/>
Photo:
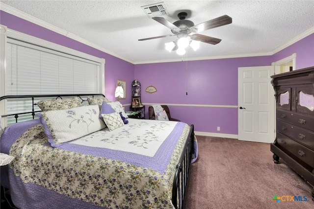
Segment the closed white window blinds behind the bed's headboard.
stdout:
<path fill-rule="evenodd" d="M 100 92 L 101 63 L 13 39 L 8 39 L 5 59 L 5 95 Z M 7 114 L 26 111 L 25 107 L 31 106 L 28 103 L 8 100 Z M 30 116 L 21 117 L 27 120 Z M 9 117 L 8 124 L 12 120 L 15 122 L 13 117 Z"/>

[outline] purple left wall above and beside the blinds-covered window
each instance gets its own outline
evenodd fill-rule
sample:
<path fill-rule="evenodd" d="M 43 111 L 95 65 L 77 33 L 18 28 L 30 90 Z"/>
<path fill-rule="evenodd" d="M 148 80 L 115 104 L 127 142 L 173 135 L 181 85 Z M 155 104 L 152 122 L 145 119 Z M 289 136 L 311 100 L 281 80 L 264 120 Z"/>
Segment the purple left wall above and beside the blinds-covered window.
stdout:
<path fill-rule="evenodd" d="M 24 19 L 18 18 L 14 15 L 0 11 L 0 24 L 7 26 L 11 29 L 26 33 L 28 35 L 41 38 L 52 43 L 56 43 L 71 49 L 77 50 L 79 52 L 84 52 L 91 54 L 96 57 L 105 58 L 105 96 L 111 100 L 115 101 L 114 90 L 117 85 L 117 79 L 122 79 L 127 81 L 127 98 L 125 100 L 120 100 L 122 104 L 129 104 L 131 101 L 131 82 L 134 77 L 134 65 L 119 59 L 115 56 L 82 44 L 71 38 L 63 36 L 59 33 L 53 32 L 42 26 L 30 23 Z"/>

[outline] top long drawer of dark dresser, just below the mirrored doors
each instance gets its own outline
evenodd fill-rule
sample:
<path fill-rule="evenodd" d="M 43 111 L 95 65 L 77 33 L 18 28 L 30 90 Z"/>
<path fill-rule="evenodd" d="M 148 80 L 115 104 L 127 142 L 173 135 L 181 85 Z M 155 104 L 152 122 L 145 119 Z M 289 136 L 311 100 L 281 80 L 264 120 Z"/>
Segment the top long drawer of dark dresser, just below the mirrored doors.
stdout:
<path fill-rule="evenodd" d="M 314 117 L 311 116 L 277 110 L 277 119 L 314 131 Z"/>

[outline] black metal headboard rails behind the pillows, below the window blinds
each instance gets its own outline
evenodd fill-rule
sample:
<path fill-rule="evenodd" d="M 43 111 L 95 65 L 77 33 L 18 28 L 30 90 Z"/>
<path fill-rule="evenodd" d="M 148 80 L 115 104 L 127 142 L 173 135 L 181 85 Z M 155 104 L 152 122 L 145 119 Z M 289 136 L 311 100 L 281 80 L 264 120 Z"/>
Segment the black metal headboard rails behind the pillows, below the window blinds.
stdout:
<path fill-rule="evenodd" d="M 6 115 L 1 115 L 1 117 L 8 117 L 8 116 L 14 116 L 15 118 L 15 122 L 18 122 L 18 117 L 19 115 L 24 115 L 24 114 L 30 114 L 33 116 L 35 116 L 35 113 L 37 112 L 41 112 L 42 110 L 34 110 L 34 106 L 37 105 L 36 103 L 34 103 L 34 99 L 35 98 L 45 98 L 45 99 L 51 99 L 51 98 L 55 98 L 55 99 L 62 99 L 62 97 L 79 97 L 81 99 L 81 103 L 83 103 L 86 100 L 83 100 L 81 97 L 94 97 L 94 96 L 103 96 L 105 97 L 104 94 L 38 94 L 38 95 L 8 95 L 8 96 L 3 96 L 0 97 L 0 101 L 1 100 L 5 100 L 5 99 L 21 99 L 21 98 L 29 98 L 29 100 L 32 101 L 32 109 L 31 111 L 27 111 L 27 112 L 19 112 L 19 113 L 13 113 L 13 114 L 6 114 Z"/>

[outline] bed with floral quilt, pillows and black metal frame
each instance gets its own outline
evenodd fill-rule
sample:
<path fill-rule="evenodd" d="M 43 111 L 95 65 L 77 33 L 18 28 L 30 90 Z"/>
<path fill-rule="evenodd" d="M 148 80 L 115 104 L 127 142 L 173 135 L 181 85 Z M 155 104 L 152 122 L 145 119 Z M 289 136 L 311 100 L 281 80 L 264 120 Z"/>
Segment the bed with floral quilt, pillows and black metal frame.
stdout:
<path fill-rule="evenodd" d="M 1 153 L 15 157 L 1 167 L 1 186 L 9 188 L 16 207 L 183 208 L 190 165 L 197 158 L 193 125 L 127 118 L 119 102 L 116 109 L 107 100 L 114 112 L 107 112 L 106 102 L 34 108 L 37 98 L 62 97 L 105 100 L 85 94 L 0 98 L 32 101 L 25 113 L 33 120 L 6 127 L 0 138 Z M 11 115 L 18 122 L 20 114 L 2 117 Z"/>

